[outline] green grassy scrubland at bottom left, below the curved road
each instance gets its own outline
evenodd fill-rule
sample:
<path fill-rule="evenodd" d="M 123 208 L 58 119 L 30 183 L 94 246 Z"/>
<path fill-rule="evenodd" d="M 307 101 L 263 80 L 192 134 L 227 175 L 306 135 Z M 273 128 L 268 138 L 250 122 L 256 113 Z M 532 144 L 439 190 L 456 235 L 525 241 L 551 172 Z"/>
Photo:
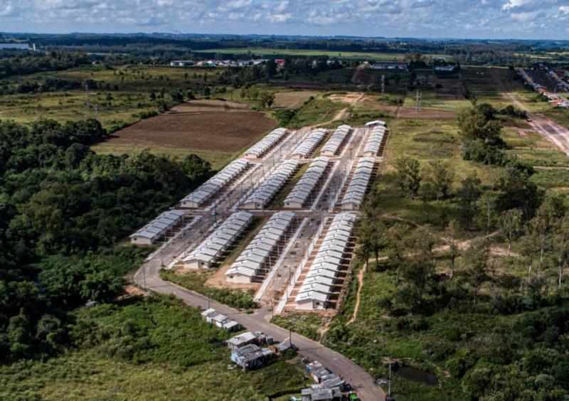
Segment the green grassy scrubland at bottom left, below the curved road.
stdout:
<path fill-rule="evenodd" d="M 2 399 L 266 400 L 307 383 L 289 356 L 252 372 L 234 368 L 220 342 L 231 334 L 181 301 L 129 299 L 77 315 L 78 348 L 0 368 Z"/>

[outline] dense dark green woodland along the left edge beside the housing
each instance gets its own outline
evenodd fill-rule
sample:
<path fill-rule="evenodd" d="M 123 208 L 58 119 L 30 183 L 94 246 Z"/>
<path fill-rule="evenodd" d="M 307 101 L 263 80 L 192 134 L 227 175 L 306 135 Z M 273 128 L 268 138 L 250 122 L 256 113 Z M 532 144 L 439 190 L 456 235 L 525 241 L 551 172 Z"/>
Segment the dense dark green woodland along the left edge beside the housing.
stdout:
<path fill-rule="evenodd" d="M 208 178 L 197 156 L 100 156 L 95 119 L 0 122 L 0 355 L 65 348 L 68 311 L 122 290 L 145 250 L 117 242 Z"/>

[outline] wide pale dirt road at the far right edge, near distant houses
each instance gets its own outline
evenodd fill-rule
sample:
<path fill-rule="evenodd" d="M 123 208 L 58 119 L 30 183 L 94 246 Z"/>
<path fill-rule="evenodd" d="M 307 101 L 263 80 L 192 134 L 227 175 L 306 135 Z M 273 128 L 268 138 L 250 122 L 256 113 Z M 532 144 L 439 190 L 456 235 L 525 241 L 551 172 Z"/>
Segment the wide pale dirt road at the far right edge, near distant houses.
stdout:
<path fill-rule="evenodd" d="M 546 137 L 549 141 L 551 141 L 555 146 L 563 151 L 566 155 L 569 156 L 569 129 L 562 127 L 561 125 L 553 122 L 551 119 L 547 119 L 540 114 L 534 114 L 529 111 L 529 109 L 524 106 L 514 95 L 511 90 L 509 90 L 504 82 L 500 80 L 500 77 L 496 74 L 494 69 L 490 69 L 490 73 L 494 82 L 500 87 L 502 90 L 502 95 L 507 97 L 511 102 L 516 105 L 519 109 L 525 110 L 528 113 L 528 116 L 532 119 L 529 124 L 533 128 L 534 131 L 541 134 L 543 137 Z"/>

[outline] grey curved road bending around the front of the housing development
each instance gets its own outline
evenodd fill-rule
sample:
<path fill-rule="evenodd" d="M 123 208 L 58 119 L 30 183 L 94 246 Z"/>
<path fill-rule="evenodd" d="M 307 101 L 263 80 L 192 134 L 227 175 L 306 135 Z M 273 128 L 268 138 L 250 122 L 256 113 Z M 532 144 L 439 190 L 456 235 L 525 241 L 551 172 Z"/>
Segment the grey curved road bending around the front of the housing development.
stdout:
<path fill-rule="evenodd" d="M 203 216 L 203 225 L 207 226 L 210 222 L 211 216 Z M 190 291 L 176 284 L 167 282 L 160 278 L 159 272 L 161 263 L 169 262 L 173 257 L 180 254 L 182 249 L 182 241 L 175 239 L 166 243 L 159 251 L 149 257 L 134 274 L 134 282 L 141 287 L 147 287 L 154 292 L 160 294 L 174 294 L 179 299 L 184 301 L 189 306 L 207 308 L 208 299 L 206 296 Z M 265 306 L 257 309 L 253 314 L 245 314 L 220 304 L 219 302 L 210 301 L 210 306 L 226 316 L 230 316 L 241 325 L 251 331 L 264 331 L 277 341 L 284 341 L 289 337 L 289 332 L 285 328 L 271 324 L 270 311 Z M 300 336 L 296 333 L 292 334 L 292 343 L 299 348 L 299 352 L 310 360 L 318 360 L 322 365 L 331 370 L 336 375 L 341 376 L 347 383 L 349 383 L 356 393 L 363 401 L 376 401 L 385 400 L 385 392 L 374 383 L 365 370 L 360 368 L 356 363 L 353 363 L 349 358 L 344 355 L 324 347 L 317 341 L 312 341 L 309 338 Z"/>

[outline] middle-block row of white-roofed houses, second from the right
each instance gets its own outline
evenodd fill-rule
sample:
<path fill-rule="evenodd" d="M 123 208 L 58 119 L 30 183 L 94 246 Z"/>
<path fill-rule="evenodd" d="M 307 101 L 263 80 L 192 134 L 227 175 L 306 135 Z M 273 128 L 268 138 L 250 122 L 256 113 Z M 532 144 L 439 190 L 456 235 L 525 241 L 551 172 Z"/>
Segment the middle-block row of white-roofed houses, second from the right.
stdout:
<path fill-rule="evenodd" d="M 308 167 L 297 185 L 285 198 L 285 208 L 299 209 L 308 201 L 312 201 L 314 191 L 319 189 L 319 184 L 326 178 L 326 173 L 330 169 L 330 159 L 326 156 L 319 156 Z"/>

